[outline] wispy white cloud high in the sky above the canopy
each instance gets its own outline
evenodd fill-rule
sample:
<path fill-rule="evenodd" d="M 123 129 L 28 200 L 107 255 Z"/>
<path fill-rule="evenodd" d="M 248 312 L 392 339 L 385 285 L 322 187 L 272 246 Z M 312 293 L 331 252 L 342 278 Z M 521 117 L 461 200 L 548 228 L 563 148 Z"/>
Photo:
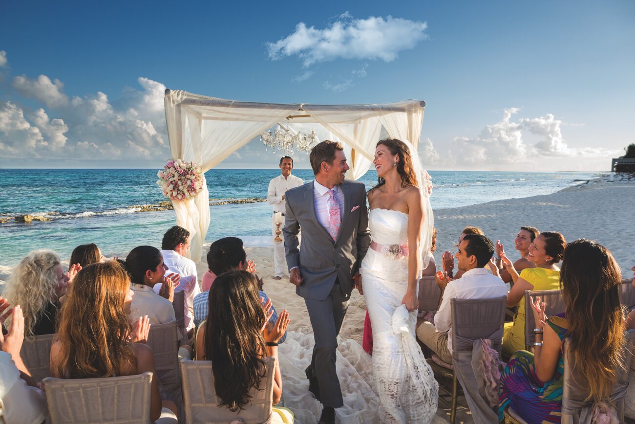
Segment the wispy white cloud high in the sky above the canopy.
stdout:
<path fill-rule="evenodd" d="M 338 58 L 392 62 L 399 51 L 427 39 L 426 28 L 425 22 L 391 16 L 352 19 L 344 13 L 324 29 L 300 22 L 291 34 L 266 45 L 271 60 L 297 55 L 304 67 Z"/>

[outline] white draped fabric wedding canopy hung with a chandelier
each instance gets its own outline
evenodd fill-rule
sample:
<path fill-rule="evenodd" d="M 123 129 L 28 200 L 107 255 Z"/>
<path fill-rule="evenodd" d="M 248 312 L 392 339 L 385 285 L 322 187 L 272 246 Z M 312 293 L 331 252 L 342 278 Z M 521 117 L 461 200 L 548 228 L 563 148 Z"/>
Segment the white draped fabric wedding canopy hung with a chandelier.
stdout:
<path fill-rule="evenodd" d="M 385 104 L 276 104 L 237 102 L 165 90 L 165 118 L 173 159 L 194 161 L 203 172 L 277 123 L 314 123 L 342 142 L 349 158 L 349 178 L 366 173 L 382 126 L 389 137 L 417 147 L 424 121 L 425 102 L 402 100 Z M 177 224 L 192 235 L 190 256 L 198 262 L 210 226 L 207 184 L 194 202 L 173 202 Z"/>

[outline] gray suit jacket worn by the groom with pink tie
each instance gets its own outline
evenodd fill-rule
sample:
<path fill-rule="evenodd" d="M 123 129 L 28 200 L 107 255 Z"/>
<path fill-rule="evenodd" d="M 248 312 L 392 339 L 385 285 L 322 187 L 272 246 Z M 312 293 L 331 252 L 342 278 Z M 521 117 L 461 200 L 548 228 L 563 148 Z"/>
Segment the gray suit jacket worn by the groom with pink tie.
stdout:
<path fill-rule="evenodd" d="M 326 299 L 340 278 L 342 291 L 348 297 L 353 289 L 352 276 L 370 246 L 366 187 L 357 181 L 345 180 L 342 224 L 337 240 L 319 223 L 313 200 L 313 181 L 286 192 L 284 250 L 289 269 L 297 266 L 304 282 L 296 287 L 299 296 Z M 358 208 L 351 212 L 351 209 Z M 298 250 L 298 231 L 302 228 L 302 245 Z"/>

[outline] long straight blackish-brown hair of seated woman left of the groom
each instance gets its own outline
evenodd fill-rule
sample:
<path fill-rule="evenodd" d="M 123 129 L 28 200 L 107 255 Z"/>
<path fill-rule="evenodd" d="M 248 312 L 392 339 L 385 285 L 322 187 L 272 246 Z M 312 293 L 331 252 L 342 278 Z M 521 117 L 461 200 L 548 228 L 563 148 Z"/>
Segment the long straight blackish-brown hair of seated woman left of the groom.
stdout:
<path fill-rule="evenodd" d="M 267 351 L 260 329 L 266 317 L 256 277 L 239 270 L 222 273 L 211 286 L 209 304 L 205 359 L 213 364 L 220 406 L 239 411 L 265 376 L 262 357 Z"/>

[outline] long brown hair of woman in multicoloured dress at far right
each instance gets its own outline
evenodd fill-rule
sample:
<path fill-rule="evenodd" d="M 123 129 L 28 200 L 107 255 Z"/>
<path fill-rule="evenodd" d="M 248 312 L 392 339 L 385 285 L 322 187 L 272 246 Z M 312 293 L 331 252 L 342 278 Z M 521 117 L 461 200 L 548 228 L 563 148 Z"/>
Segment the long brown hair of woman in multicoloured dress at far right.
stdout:
<path fill-rule="evenodd" d="M 607 399 L 622 364 L 622 273 L 611 252 L 592 240 L 568 243 L 560 288 L 569 322 L 566 337 L 575 367 L 589 386 L 586 400 Z"/>

